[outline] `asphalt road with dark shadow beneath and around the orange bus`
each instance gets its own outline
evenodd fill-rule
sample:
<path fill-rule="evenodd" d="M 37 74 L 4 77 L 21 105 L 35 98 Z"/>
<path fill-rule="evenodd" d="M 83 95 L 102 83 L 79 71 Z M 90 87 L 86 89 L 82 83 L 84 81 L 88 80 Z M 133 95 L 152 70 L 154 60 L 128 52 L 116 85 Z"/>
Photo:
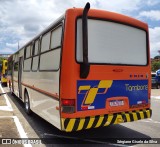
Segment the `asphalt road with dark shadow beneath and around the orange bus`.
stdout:
<path fill-rule="evenodd" d="M 7 91 L 7 88 L 4 90 Z M 94 146 L 129 146 L 115 144 L 108 138 L 130 138 L 130 140 L 134 138 L 160 138 L 160 90 L 154 89 L 151 94 L 153 110 L 151 119 L 74 133 L 61 132 L 36 114 L 32 114 L 31 117 L 27 116 L 23 109 L 23 103 L 9 93 L 8 97 L 13 106 L 14 115 L 19 118 L 28 138 L 52 138 L 55 143 L 54 146 L 70 146 L 71 144 L 81 146 L 81 143 L 86 143 L 83 146 L 88 146 L 88 144 L 94 144 Z M 59 144 L 60 142 L 62 144 Z M 146 144 L 135 143 L 135 146 L 145 147 Z"/>

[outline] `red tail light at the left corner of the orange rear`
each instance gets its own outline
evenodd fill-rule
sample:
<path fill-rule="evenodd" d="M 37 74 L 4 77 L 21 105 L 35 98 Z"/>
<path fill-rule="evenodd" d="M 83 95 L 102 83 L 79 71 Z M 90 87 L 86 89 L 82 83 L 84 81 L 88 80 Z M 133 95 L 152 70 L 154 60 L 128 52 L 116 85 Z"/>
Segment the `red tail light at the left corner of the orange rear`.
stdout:
<path fill-rule="evenodd" d="M 62 99 L 61 106 L 62 106 L 63 113 L 74 113 L 75 99 Z"/>

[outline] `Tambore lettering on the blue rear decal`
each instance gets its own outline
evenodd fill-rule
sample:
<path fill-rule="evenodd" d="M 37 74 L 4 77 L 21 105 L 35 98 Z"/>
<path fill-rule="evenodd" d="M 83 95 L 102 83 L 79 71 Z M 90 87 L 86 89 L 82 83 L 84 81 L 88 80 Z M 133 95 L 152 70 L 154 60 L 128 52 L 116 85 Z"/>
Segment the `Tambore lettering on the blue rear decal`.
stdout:
<path fill-rule="evenodd" d="M 139 90 L 148 90 L 148 85 L 129 85 L 125 84 L 126 91 L 139 91 Z"/>

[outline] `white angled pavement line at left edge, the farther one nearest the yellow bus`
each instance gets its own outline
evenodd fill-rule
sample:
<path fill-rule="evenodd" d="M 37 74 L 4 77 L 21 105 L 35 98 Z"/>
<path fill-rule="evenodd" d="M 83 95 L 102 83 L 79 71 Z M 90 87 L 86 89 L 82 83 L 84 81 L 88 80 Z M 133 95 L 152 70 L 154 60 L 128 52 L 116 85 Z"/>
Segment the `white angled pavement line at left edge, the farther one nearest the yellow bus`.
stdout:
<path fill-rule="evenodd" d="M 1 86 L 1 84 L 0 84 L 0 89 L 1 89 L 2 93 L 5 93 L 4 89 Z M 7 95 L 4 94 L 3 96 L 4 96 L 5 100 L 6 100 L 7 106 L 0 106 L 0 110 L 3 110 L 3 111 L 13 111 L 12 105 L 9 102 Z"/>

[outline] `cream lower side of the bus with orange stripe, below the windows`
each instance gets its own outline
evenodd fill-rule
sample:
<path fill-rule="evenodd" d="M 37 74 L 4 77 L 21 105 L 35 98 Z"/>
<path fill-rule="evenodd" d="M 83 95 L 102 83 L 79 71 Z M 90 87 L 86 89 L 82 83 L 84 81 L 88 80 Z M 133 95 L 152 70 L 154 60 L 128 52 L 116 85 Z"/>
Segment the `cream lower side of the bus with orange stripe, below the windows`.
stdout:
<path fill-rule="evenodd" d="M 14 94 L 24 102 L 24 93 L 28 92 L 30 108 L 33 112 L 61 128 L 59 113 L 59 74 L 56 72 L 22 71 L 22 97 L 19 95 L 18 71 L 13 72 Z"/>

